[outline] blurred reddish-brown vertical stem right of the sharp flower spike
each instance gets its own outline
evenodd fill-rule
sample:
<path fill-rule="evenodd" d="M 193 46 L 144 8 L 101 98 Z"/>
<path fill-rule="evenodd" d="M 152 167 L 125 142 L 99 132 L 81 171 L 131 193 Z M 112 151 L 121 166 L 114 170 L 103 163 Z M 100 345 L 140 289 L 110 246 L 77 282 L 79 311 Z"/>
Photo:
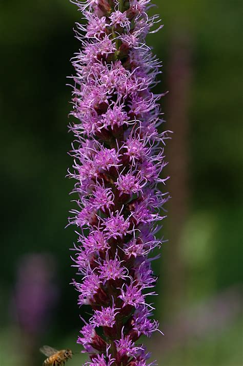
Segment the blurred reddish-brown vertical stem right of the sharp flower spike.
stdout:
<path fill-rule="evenodd" d="M 188 35 L 174 34 L 168 61 L 168 128 L 174 133 L 168 143 L 168 237 L 165 263 L 165 311 L 178 310 L 184 293 L 184 266 L 180 256 L 181 233 L 188 213 L 188 130 L 191 88 L 191 45 Z"/>

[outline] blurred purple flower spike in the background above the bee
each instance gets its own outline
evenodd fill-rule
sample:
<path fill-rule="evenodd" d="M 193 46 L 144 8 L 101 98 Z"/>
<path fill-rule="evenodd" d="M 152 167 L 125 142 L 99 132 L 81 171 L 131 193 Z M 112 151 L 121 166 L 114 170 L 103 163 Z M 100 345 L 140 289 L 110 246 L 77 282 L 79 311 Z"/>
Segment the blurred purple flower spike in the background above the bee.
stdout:
<path fill-rule="evenodd" d="M 54 258 L 48 254 L 27 254 L 18 264 L 14 290 L 16 321 L 29 335 L 38 336 L 47 326 L 56 301 Z"/>

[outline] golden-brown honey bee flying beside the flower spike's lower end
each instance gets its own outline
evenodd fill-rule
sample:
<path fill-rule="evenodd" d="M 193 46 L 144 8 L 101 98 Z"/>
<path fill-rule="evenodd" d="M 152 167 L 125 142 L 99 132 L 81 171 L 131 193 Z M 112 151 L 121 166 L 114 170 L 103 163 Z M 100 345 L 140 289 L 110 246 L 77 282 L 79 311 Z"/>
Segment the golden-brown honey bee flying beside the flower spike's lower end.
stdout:
<path fill-rule="evenodd" d="M 72 351 L 69 349 L 57 351 L 54 348 L 49 347 L 49 345 L 44 345 L 39 351 L 48 357 L 43 362 L 43 366 L 63 366 L 73 355 Z"/>

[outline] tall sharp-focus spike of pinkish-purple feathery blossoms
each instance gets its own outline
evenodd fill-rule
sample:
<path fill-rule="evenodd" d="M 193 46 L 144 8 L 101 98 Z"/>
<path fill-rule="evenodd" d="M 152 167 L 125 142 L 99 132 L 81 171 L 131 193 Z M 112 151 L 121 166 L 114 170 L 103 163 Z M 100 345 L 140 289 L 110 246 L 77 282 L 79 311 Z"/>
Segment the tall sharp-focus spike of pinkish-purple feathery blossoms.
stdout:
<path fill-rule="evenodd" d="M 158 330 L 148 299 L 156 284 L 151 251 L 162 243 L 155 234 L 169 198 L 158 188 L 167 179 L 160 174 L 168 132 L 157 130 L 162 95 L 152 88 L 160 62 L 145 38 L 161 26 L 147 13 L 150 0 L 74 2 L 87 22 L 77 24 L 82 49 L 72 60 L 69 176 L 78 198 L 69 223 L 78 233 L 78 304 L 93 310 L 77 342 L 87 365 L 152 365 L 137 341 Z"/>

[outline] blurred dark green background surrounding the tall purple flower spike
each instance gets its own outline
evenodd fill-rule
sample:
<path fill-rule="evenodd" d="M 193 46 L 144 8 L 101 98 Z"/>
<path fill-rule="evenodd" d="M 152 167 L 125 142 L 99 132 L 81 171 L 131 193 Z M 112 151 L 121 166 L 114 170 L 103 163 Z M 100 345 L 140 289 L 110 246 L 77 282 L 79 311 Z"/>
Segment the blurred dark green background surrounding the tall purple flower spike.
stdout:
<path fill-rule="evenodd" d="M 166 148 L 173 198 L 163 228 L 169 241 L 154 266 L 155 315 L 165 336 L 145 341 L 159 366 L 240 366 L 242 5 L 154 3 L 165 27 L 148 43 L 164 63 L 156 91 L 170 90 L 162 103 L 166 128 L 174 131 Z M 78 309 L 69 285 L 75 272 L 69 248 L 76 236 L 73 227 L 64 229 L 73 185 L 65 179 L 72 164 L 66 153 L 71 89 L 65 84 L 80 46 L 72 30 L 80 13 L 68 0 L 1 0 L 0 16 L 0 365 L 38 366 L 43 344 L 80 351 L 79 314 L 89 312 Z M 28 272 L 33 258 L 42 260 Z M 21 277 L 23 266 L 27 274 Z M 46 313 L 36 313 L 43 318 L 30 330 L 18 291 L 39 284 L 42 270 L 52 286 L 46 295 L 55 296 Z M 33 296 L 27 290 L 27 313 L 38 299 Z M 77 354 L 70 366 L 84 360 Z"/>

